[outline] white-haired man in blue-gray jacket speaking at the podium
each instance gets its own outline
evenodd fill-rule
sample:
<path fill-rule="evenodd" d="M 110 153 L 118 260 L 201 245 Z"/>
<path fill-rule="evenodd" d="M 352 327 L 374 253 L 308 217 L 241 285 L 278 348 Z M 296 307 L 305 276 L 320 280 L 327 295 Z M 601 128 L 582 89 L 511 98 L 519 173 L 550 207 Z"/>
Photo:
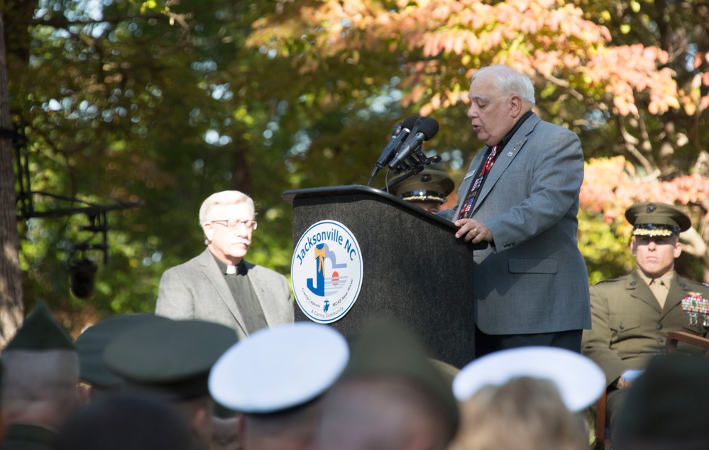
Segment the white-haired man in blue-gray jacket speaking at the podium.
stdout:
<path fill-rule="evenodd" d="M 576 242 L 581 142 L 532 112 L 532 81 L 510 67 L 478 70 L 468 98 L 485 147 L 456 208 L 440 214 L 460 227 L 456 238 L 489 244 L 473 256 L 476 355 L 527 345 L 581 351 L 582 330 L 590 328 Z"/>

